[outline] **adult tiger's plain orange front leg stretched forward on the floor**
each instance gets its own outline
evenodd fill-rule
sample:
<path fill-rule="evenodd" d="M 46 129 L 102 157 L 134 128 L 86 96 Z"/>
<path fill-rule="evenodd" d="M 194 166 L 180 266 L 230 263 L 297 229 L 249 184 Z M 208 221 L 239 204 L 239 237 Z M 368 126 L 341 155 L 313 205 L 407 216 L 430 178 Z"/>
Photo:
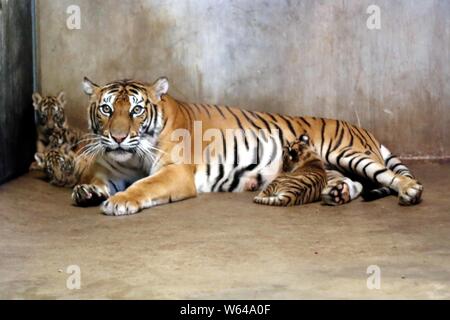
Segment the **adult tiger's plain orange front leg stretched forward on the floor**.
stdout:
<path fill-rule="evenodd" d="M 133 183 L 102 205 L 107 215 L 129 215 L 155 205 L 179 201 L 197 195 L 193 168 L 190 165 L 171 164 L 154 175 Z"/>

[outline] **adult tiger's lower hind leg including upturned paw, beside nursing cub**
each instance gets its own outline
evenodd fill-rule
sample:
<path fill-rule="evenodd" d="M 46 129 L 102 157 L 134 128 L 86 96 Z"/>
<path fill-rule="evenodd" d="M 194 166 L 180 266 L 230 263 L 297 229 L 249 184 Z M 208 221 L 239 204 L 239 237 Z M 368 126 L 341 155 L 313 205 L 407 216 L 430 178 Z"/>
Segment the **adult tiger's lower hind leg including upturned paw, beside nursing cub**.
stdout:
<path fill-rule="evenodd" d="M 361 183 L 345 177 L 336 170 L 327 170 L 327 185 L 322 190 L 322 201 L 336 206 L 356 199 L 363 190 Z"/>

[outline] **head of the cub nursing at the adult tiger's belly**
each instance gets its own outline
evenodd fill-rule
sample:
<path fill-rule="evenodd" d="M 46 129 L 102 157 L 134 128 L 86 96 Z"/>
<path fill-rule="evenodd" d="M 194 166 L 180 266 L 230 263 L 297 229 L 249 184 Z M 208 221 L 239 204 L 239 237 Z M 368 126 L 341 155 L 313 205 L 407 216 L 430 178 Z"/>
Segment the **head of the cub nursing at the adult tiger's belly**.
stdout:
<path fill-rule="evenodd" d="M 283 172 L 293 172 L 316 161 L 320 161 L 320 158 L 306 134 L 283 147 Z"/>

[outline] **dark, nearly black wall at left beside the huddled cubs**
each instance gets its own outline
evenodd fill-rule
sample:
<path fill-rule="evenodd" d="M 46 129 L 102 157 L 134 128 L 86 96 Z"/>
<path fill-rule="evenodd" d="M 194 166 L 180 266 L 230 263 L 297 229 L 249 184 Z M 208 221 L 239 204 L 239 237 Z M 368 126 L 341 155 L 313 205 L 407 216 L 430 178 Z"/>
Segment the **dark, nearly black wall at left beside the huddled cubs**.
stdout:
<path fill-rule="evenodd" d="M 0 0 L 0 184 L 27 172 L 35 152 L 31 39 L 31 2 Z"/>

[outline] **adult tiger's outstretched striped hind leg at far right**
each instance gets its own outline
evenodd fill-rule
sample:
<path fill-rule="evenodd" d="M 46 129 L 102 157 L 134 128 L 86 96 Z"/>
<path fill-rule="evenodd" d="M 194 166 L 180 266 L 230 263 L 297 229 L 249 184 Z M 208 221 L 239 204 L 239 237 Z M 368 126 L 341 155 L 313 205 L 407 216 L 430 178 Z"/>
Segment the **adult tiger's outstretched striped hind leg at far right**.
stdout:
<path fill-rule="evenodd" d="M 342 158 L 340 165 L 363 178 L 398 192 L 401 205 L 413 205 L 421 200 L 422 184 L 407 175 L 395 173 L 384 163 L 374 160 L 365 153 L 355 153 L 351 157 Z"/>

